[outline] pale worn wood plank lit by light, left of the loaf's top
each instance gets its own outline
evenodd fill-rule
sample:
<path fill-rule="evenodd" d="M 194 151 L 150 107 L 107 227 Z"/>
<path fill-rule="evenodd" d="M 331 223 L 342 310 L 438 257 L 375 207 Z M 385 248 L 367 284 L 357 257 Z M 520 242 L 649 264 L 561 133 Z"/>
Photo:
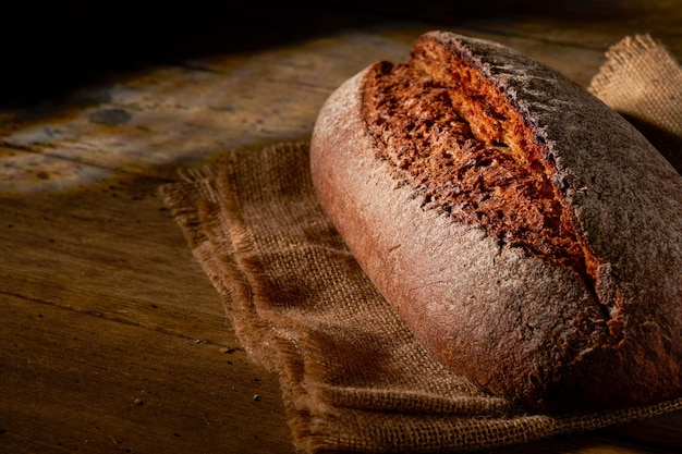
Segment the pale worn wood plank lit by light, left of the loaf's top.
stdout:
<path fill-rule="evenodd" d="M 80 99 L 92 91 L 74 93 L 49 116 L 23 119 L 3 142 L 62 160 L 173 179 L 181 164 L 229 148 L 306 139 L 331 87 L 251 76 L 154 69 L 98 87 L 99 98 L 90 96 L 86 106 Z"/>

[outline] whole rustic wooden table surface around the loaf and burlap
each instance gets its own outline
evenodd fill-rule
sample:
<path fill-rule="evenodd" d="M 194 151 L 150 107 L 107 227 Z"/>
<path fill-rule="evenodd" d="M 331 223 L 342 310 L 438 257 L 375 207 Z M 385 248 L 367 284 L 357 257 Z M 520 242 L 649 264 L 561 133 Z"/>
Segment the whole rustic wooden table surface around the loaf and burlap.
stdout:
<path fill-rule="evenodd" d="M 0 452 L 293 453 L 277 377 L 157 196 L 179 167 L 308 138 L 334 87 L 428 29 L 582 85 L 625 35 L 682 60 L 675 1 L 418 3 L 25 5 L 0 78 Z M 673 414 L 495 453 L 681 450 Z"/>

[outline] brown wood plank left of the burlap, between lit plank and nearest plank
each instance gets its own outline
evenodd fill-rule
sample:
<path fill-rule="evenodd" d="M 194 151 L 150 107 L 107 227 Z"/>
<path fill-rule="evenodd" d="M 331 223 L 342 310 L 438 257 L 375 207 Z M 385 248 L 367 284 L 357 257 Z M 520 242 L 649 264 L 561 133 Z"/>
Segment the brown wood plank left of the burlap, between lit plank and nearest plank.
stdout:
<path fill-rule="evenodd" d="M 13 152 L 15 161 L 34 155 Z M 11 238 L 0 243 L 0 273 L 12 277 L 0 281 L 0 294 L 187 339 L 234 342 L 226 339 L 215 290 L 157 195 L 163 181 L 40 158 L 40 172 L 57 167 L 99 177 L 68 189 L 45 187 L 53 179 L 63 182 L 59 176 L 38 179 L 42 192 L 28 186 L 0 197 L 2 237 Z M 85 170 L 64 170 L 69 163 Z"/>

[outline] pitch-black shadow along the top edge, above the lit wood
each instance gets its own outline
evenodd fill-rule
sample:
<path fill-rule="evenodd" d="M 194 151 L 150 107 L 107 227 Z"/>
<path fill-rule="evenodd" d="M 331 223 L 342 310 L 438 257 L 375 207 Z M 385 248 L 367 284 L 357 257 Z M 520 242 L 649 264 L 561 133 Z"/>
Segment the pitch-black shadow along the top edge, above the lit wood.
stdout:
<path fill-rule="evenodd" d="M 634 0 L 633 0 L 634 1 Z M 632 1 L 628 2 L 631 3 Z M 96 81 L 102 74 L 224 52 L 246 52 L 387 21 L 443 25 L 495 17 L 618 17 L 616 0 L 476 2 L 197 0 L 16 3 L 0 27 L 0 108 L 22 107 Z M 631 11 L 632 13 L 632 11 Z"/>

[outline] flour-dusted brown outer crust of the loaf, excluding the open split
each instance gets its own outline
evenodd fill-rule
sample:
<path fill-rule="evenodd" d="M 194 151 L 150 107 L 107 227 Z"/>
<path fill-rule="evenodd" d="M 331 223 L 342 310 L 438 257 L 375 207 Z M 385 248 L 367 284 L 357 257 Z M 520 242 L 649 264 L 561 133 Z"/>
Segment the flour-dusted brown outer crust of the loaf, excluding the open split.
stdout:
<path fill-rule="evenodd" d="M 436 358 L 492 394 L 544 409 L 681 396 L 682 177 L 614 111 L 527 57 L 431 32 L 413 58 L 429 49 L 471 65 L 524 119 L 594 279 L 428 209 L 377 157 L 362 113 L 372 66 L 329 97 L 310 143 L 320 204 L 369 279 Z"/>

